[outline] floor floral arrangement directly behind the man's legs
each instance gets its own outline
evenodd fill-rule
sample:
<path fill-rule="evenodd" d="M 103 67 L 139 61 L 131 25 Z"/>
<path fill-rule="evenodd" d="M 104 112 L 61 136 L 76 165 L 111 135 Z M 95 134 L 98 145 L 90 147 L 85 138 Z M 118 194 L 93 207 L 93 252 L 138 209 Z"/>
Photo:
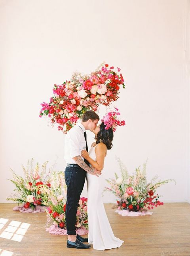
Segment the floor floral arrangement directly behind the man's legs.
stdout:
<path fill-rule="evenodd" d="M 48 206 L 45 210 L 47 213 L 46 227 L 53 223 L 54 226 L 66 230 L 65 211 L 67 186 L 65 185 L 64 173 L 53 172 L 51 174 L 51 184 L 51 188 L 47 185 L 41 188 L 41 192 L 46 194 L 45 204 Z M 88 229 L 87 198 L 80 198 L 76 215 L 76 228 L 85 227 Z"/>

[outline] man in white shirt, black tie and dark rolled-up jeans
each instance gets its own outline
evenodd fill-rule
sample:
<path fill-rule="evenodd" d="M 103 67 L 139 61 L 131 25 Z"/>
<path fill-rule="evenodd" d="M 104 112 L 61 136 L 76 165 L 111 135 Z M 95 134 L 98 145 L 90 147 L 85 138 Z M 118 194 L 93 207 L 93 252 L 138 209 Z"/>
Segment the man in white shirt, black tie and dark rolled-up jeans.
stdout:
<path fill-rule="evenodd" d="M 66 202 L 66 223 L 67 223 L 67 247 L 86 249 L 90 245 L 87 238 L 76 235 L 76 212 L 80 194 L 83 190 L 86 173 L 99 176 L 101 171 L 94 167 L 89 167 L 89 162 L 80 156 L 82 150 L 88 151 L 86 141 L 86 130 L 93 131 L 97 127 L 99 116 L 92 110 L 87 111 L 82 116 L 81 123 L 77 123 L 72 127 L 65 137 L 65 161 L 67 167 L 65 169 L 65 182 L 67 185 L 67 202 Z"/>

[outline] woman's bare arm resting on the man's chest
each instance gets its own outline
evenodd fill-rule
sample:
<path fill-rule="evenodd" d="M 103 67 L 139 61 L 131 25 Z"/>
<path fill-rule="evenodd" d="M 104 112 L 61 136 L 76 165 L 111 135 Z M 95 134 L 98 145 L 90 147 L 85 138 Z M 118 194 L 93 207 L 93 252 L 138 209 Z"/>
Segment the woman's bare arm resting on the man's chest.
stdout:
<path fill-rule="evenodd" d="M 101 171 L 104 167 L 104 158 L 106 155 L 107 147 L 104 143 L 97 144 L 95 148 L 96 161 L 89 157 L 88 152 L 86 150 L 82 150 L 81 156 L 85 158 L 91 166 L 96 168 L 98 171 Z"/>

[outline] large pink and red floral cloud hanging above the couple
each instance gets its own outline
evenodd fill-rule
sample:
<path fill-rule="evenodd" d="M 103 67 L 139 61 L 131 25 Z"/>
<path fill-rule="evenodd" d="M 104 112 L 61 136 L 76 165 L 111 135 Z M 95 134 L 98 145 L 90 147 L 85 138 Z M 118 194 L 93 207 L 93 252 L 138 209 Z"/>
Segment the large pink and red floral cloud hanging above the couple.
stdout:
<path fill-rule="evenodd" d="M 70 81 L 54 85 L 54 96 L 50 102 L 43 102 L 40 117 L 47 115 L 51 125 L 58 124 L 58 130 L 67 133 L 87 110 L 96 111 L 99 104 L 109 106 L 119 98 L 124 79 L 120 68 L 101 64 L 90 75 L 75 72 Z"/>

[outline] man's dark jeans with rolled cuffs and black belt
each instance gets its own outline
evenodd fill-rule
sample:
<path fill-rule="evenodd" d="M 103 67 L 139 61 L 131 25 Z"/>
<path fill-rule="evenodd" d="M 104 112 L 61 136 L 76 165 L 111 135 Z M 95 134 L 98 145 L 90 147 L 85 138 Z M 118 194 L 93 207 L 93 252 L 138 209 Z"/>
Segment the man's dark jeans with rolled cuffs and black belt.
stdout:
<path fill-rule="evenodd" d="M 86 171 L 77 164 L 74 167 L 66 167 L 65 182 L 67 185 L 67 202 L 66 202 L 66 223 L 67 234 L 76 235 L 76 212 L 78 202 L 82 193 L 86 179 Z"/>

